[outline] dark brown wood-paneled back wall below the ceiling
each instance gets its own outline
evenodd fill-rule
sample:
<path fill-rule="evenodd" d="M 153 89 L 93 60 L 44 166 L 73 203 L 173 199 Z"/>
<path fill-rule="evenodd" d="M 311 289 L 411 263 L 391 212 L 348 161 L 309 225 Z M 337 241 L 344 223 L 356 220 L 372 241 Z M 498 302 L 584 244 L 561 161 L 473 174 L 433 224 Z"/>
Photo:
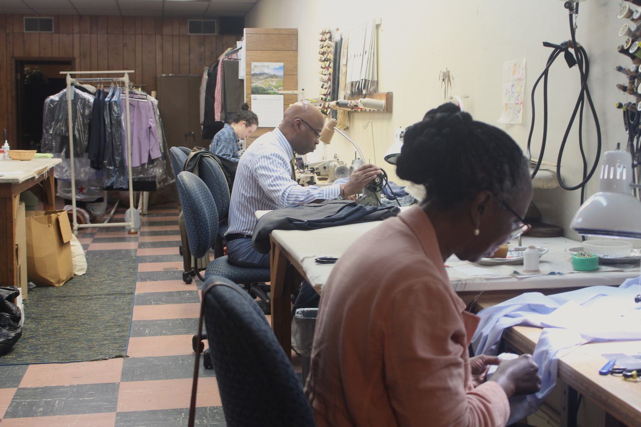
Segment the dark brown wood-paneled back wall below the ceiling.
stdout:
<path fill-rule="evenodd" d="M 158 74 L 202 74 L 242 37 L 188 35 L 186 18 L 78 15 L 54 15 L 54 33 L 24 33 L 23 17 L 0 14 L 0 129 L 11 140 L 15 58 L 73 58 L 78 71 L 135 70 L 131 81 L 151 92 Z"/>

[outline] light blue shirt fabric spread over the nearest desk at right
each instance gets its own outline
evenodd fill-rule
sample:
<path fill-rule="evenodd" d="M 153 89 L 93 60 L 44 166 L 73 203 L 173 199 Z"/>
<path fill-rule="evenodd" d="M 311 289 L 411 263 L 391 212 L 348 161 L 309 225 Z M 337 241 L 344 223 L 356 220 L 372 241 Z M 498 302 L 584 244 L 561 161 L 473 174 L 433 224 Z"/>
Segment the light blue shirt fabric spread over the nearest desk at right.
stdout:
<path fill-rule="evenodd" d="M 620 287 L 595 286 L 551 296 L 529 292 L 479 312 L 472 337 L 475 355 L 496 355 L 505 328 L 543 328 L 533 358 L 539 367 L 541 390 L 510 398 L 508 425 L 535 412 L 556 385 L 558 359 L 587 342 L 641 340 L 640 278 Z M 606 360 L 603 359 L 603 364 Z"/>

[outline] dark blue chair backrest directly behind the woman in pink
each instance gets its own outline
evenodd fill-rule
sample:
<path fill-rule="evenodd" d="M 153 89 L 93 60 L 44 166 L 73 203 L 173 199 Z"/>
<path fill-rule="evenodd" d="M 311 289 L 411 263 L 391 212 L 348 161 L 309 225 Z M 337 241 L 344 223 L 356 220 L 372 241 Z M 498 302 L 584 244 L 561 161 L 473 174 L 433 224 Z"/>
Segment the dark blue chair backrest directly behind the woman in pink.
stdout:
<path fill-rule="evenodd" d="M 227 425 L 315 425 L 301 381 L 249 294 L 212 276 L 203 285 L 203 304 Z"/>

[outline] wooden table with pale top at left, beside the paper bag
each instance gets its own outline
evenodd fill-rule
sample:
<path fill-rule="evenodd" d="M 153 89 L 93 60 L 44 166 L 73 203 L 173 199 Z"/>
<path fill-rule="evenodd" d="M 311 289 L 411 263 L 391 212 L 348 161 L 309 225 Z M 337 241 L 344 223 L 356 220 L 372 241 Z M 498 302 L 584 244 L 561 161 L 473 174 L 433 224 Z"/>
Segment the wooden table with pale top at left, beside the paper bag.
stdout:
<path fill-rule="evenodd" d="M 0 284 L 20 286 L 15 258 L 15 217 L 20 193 L 31 190 L 44 204 L 45 210 L 55 209 L 54 165 L 59 158 L 0 160 Z"/>

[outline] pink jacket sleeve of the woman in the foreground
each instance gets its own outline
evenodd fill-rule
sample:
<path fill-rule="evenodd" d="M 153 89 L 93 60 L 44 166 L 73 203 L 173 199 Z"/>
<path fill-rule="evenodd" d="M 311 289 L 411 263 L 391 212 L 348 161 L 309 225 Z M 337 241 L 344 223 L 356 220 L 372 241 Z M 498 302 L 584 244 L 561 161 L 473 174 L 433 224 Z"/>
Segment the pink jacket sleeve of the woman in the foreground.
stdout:
<path fill-rule="evenodd" d="M 390 299 L 385 381 L 399 425 L 504 426 L 510 406 L 501 386 L 471 387 L 467 334 L 447 286 L 423 276 Z"/>

